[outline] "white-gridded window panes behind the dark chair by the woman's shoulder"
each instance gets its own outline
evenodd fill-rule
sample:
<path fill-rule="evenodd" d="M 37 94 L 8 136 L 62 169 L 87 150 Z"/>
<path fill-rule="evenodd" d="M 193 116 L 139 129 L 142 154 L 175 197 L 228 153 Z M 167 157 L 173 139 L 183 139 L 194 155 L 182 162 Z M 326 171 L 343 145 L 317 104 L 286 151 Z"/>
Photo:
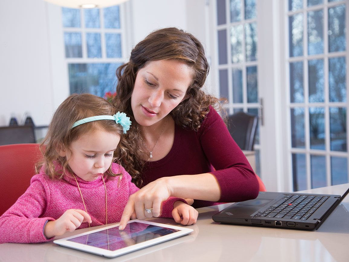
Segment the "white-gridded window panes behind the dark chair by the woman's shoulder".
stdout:
<path fill-rule="evenodd" d="M 217 0 L 216 32 L 220 96 L 229 114 L 258 115 L 258 50 L 256 0 Z M 259 129 L 255 138 L 256 173 L 260 174 Z"/>

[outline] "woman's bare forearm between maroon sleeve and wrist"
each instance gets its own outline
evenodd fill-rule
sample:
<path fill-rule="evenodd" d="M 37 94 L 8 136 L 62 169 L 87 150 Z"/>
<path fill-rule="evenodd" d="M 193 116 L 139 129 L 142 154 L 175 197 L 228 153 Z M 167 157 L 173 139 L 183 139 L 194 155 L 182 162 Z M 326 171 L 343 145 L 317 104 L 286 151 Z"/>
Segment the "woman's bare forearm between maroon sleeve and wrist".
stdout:
<path fill-rule="evenodd" d="M 213 174 L 176 175 L 163 177 L 171 196 L 216 202 L 221 198 L 221 188 Z"/>

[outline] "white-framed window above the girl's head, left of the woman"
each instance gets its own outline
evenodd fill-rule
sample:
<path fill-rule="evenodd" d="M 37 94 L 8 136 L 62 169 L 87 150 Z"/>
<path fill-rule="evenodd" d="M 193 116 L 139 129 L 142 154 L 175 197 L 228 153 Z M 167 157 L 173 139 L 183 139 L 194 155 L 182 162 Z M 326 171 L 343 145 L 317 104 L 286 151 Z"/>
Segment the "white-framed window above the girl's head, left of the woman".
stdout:
<path fill-rule="evenodd" d="M 116 90 L 116 69 L 125 63 L 122 5 L 101 9 L 62 8 L 70 93 L 103 97 Z"/>

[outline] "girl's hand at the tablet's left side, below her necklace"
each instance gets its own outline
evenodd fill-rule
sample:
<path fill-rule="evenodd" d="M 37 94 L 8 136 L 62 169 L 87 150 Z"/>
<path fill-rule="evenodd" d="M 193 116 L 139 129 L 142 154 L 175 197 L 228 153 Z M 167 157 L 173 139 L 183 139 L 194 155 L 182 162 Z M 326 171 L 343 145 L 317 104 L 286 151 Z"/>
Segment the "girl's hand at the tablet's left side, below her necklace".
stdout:
<path fill-rule="evenodd" d="M 46 238 L 52 238 L 62 235 L 67 231 L 73 232 L 83 222 L 92 223 L 92 219 L 89 214 L 80 209 L 68 209 L 57 220 L 46 223 L 44 235 Z"/>

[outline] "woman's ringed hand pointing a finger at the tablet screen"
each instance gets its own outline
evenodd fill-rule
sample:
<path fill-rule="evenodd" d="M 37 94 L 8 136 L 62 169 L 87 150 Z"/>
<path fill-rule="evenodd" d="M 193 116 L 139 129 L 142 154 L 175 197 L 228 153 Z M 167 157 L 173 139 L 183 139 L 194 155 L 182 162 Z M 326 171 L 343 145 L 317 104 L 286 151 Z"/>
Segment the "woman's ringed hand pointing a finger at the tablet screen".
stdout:
<path fill-rule="evenodd" d="M 149 217 L 159 217 L 162 201 L 171 196 L 168 184 L 166 178 L 159 178 L 132 194 L 122 213 L 119 229 L 124 230 L 130 218 L 143 220 Z M 153 208 L 153 210 L 145 213 L 144 208 Z"/>

